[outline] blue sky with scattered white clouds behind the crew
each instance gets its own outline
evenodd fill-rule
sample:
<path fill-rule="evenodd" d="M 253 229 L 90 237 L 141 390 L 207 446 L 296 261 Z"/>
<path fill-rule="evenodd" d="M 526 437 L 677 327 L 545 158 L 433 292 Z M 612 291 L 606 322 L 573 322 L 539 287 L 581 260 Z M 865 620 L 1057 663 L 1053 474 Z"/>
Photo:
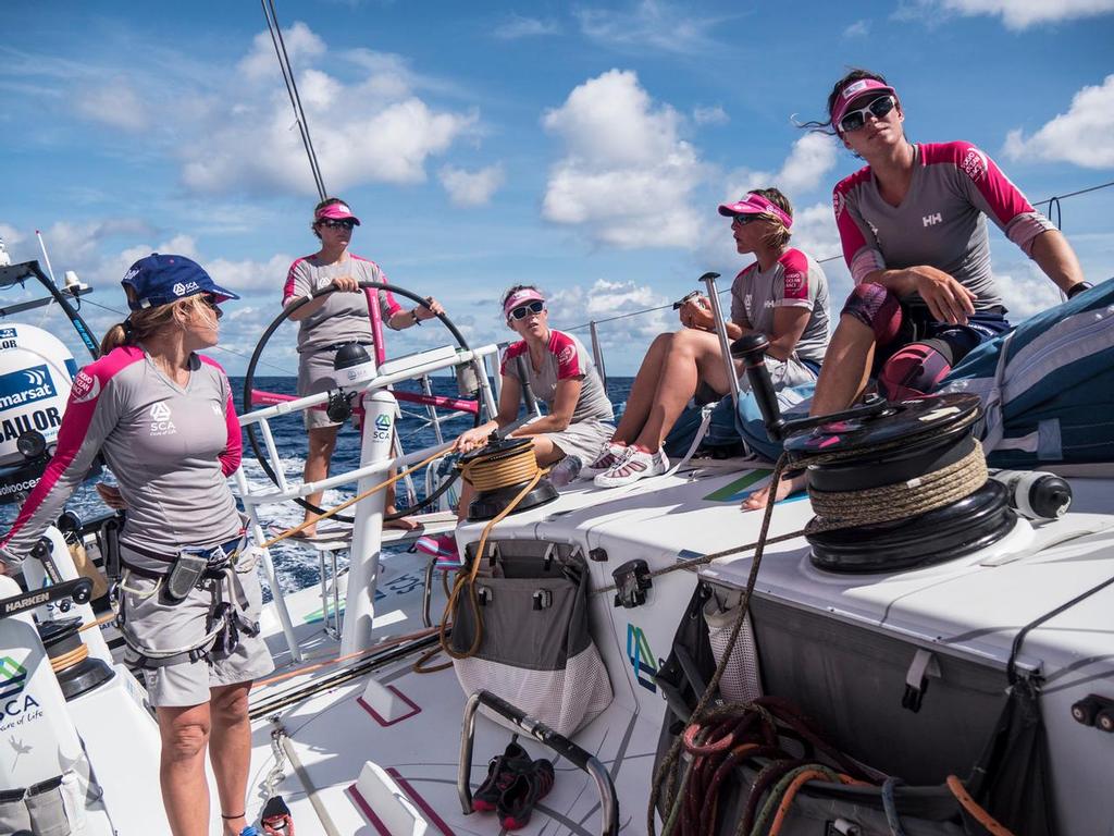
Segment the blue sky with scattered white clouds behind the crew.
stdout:
<path fill-rule="evenodd" d="M 886 74 L 913 140 L 969 139 L 1039 200 L 1114 179 L 1114 0 L 872 3 L 444 3 L 280 0 L 324 179 L 362 217 L 353 251 L 441 300 L 468 339 L 502 340 L 496 300 L 551 295 L 560 328 L 663 304 L 745 266 L 716 205 L 756 185 L 792 198 L 795 243 L 839 252 L 832 185 L 858 167 L 792 123 L 821 117 L 849 65 Z M 315 192 L 258 4 L 6 4 L 0 236 L 97 288 L 153 250 L 245 299 L 215 352 L 244 367 L 312 253 Z M 1114 265 L 1114 189 L 1063 203 L 1087 278 Z M 1056 299 L 1000 235 L 1015 319 Z M 841 300 L 841 261 L 824 264 Z M 9 291 L 10 292 L 10 291 Z M 600 327 L 633 373 L 649 314 Z M 391 353 L 447 341 L 436 324 Z M 270 369 L 293 373 L 293 333 Z M 240 352 L 240 353 L 235 353 Z"/>

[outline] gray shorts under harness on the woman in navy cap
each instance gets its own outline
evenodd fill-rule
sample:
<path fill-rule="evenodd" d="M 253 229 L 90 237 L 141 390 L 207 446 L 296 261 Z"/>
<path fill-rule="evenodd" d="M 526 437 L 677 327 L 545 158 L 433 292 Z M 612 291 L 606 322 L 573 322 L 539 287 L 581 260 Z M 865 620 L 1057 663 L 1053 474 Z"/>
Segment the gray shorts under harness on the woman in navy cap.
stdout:
<path fill-rule="evenodd" d="M 128 563 L 150 566 L 152 561 L 120 544 L 120 556 Z M 211 585 L 194 589 L 177 604 L 164 603 L 158 593 L 150 594 L 157 581 L 128 573 L 123 592 L 124 632 L 128 644 L 150 650 L 188 648 L 206 634 L 206 620 L 213 603 Z M 257 622 L 263 609 L 260 580 L 255 567 L 235 572 L 234 583 L 247 602 L 243 612 Z M 134 592 L 131 591 L 134 590 Z M 240 645 L 227 657 L 213 655 L 209 661 L 184 660 L 162 668 L 143 669 L 150 704 L 155 707 L 199 706 L 209 701 L 209 689 L 232 686 L 265 677 L 274 670 L 274 661 L 262 636 L 241 631 Z"/>

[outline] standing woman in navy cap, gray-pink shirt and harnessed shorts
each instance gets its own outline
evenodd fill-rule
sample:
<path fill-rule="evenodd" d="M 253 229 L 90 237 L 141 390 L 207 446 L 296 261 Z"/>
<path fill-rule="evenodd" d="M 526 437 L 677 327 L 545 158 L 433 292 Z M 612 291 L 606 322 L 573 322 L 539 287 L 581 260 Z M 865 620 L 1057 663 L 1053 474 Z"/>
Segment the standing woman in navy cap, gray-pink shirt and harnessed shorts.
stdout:
<path fill-rule="evenodd" d="M 232 388 L 197 353 L 217 342 L 221 303 L 238 297 L 180 255 L 140 259 L 123 284 L 131 313 L 75 378 L 58 448 L 0 556 L 18 566 L 104 454 L 119 483 L 113 504 L 128 512 L 123 633 L 158 718 L 170 833 L 209 833 L 208 746 L 224 834 L 250 836 L 247 694 L 274 664 L 258 636 L 260 583 L 227 482 L 241 457 Z"/>

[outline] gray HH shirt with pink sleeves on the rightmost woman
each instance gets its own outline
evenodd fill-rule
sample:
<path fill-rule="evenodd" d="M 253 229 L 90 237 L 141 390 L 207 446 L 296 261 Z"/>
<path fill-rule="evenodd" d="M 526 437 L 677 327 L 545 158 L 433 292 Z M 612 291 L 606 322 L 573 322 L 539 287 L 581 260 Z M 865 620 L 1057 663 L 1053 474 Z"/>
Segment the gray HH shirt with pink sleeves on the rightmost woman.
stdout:
<path fill-rule="evenodd" d="M 876 270 L 927 264 L 975 293 L 976 310 L 1001 304 L 986 218 L 1026 255 L 1037 235 L 1056 227 L 970 143 L 918 144 L 913 153 L 912 182 L 900 206 L 882 200 L 870 166 L 836 185 L 836 224 L 851 278 L 859 284 Z"/>

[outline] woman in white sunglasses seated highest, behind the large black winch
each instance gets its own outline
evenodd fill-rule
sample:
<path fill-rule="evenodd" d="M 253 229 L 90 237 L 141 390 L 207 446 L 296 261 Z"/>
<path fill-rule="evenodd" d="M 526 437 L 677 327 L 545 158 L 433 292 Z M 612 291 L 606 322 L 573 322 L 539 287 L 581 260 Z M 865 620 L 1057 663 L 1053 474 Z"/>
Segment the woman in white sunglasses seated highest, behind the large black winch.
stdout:
<path fill-rule="evenodd" d="M 967 142 L 910 143 L 882 76 L 857 69 L 828 97 L 824 121 L 867 166 L 836 185 L 833 206 L 854 291 L 812 401 L 846 409 L 877 377 L 891 400 L 927 393 L 979 343 L 1010 328 L 990 270 L 987 218 L 1068 297 L 1091 285 L 1067 240 L 985 152 Z M 803 478 L 779 486 L 779 498 Z M 749 504 L 762 507 L 768 492 Z"/>

